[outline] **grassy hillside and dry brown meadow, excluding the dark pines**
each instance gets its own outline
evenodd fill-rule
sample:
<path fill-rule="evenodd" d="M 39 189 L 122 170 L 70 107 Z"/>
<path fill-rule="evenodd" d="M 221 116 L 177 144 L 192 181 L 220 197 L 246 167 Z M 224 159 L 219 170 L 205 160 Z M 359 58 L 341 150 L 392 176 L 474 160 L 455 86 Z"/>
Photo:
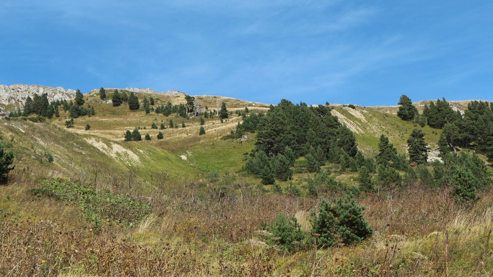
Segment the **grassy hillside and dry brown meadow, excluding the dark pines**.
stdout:
<path fill-rule="evenodd" d="M 244 170 L 257 132 L 221 139 L 243 121 L 235 111 L 266 113 L 268 104 L 195 96 L 210 111 L 221 101 L 231 112 L 223 122 L 214 116 L 201 125 L 199 118 L 176 113 L 146 114 L 143 107 L 130 110 L 126 103 L 113 107 L 113 90 L 106 90 L 104 100 L 98 90 L 85 94 L 84 106 L 94 107 L 96 114 L 76 118 L 73 128 L 65 127 L 70 114 L 61 107 L 60 117 L 44 121 L 0 119 L 1 141 L 15 152 L 16 166 L 8 183 L 0 185 L 0 274 L 466 276 L 493 270 L 491 190 L 482 191 L 474 205 L 462 205 L 451 198 L 450 185 L 430 185 L 426 172 L 436 172 L 427 164 L 411 168 L 412 182 L 410 167 L 399 170 L 407 179 L 390 188 L 380 185 L 378 173 L 370 173 L 378 189 L 361 192 L 359 170 L 324 162 L 322 173 L 309 172 L 307 159 L 299 157 L 291 180 L 276 180 L 281 187 L 276 193 L 274 185 L 262 185 Z M 153 97 L 153 108 L 185 103 L 184 94 L 176 91 L 118 90 L 135 92 L 141 103 Z M 467 101 L 451 104 L 467 107 Z M 401 120 L 397 107 L 330 107 L 366 158 L 378 151 L 382 134 L 398 153 L 407 153 L 413 129 L 424 132 L 431 148 L 441 132 Z M 170 120 L 178 128 L 170 128 Z M 136 127 L 142 138 L 148 133 L 151 139 L 125 141 L 125 132 Z M 199 136 L 201 127 L 206 134 Z M 159 132 L 163 139 L 156 138 Z M 437 155 L 429 152 L 429 161 Z M 326 187 L 310 195 L 313 180 L 321 178 L 327 178 Z M 320 198 L 348 192 L 366 206 L 365 218 L 374 230 L 361 243 L 319 248 L 307 241 L 311 246 L 297 248 L 301 242 L 296 242 L 296 251 L 286 252 L 278 238 L 269 241 L 269 232 L 259 231 L 262 222 L 270 224 L 285 213 L 311 234 L 310 212 L 320 206 Z"/>

